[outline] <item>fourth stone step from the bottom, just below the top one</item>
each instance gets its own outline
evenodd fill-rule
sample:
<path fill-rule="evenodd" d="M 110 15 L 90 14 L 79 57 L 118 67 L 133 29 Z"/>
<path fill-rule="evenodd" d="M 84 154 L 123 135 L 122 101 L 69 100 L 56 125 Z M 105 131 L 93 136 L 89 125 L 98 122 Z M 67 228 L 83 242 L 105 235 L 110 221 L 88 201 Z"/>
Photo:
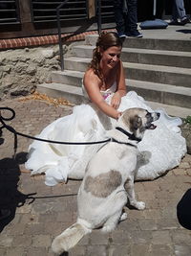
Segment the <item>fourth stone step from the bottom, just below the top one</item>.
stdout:
<path fill-rule="evenodd" d="M 95 46 L 78 45 L 73 47 L 74 56 L 78 58 L 92 58 Z M 123 47 L 122 61 L 143 64 L 164 65 L 174 67 L 191 67 L 191 52 L 163 51 L 140 48 Z"/>

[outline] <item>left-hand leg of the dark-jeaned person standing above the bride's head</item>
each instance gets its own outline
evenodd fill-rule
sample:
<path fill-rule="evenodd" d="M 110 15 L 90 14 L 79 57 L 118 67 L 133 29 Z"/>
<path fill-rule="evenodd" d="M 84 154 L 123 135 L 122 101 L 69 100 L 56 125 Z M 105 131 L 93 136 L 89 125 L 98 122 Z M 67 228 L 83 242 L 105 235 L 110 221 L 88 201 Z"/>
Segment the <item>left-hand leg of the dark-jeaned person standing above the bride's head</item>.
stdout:
<path fill-rule="evenodd" d="M 123 13 L 123 0 L 114 0 L 115 21 L 117 24 L 117 33 L 119 36 L 124 35 L 124 13 Z"/>

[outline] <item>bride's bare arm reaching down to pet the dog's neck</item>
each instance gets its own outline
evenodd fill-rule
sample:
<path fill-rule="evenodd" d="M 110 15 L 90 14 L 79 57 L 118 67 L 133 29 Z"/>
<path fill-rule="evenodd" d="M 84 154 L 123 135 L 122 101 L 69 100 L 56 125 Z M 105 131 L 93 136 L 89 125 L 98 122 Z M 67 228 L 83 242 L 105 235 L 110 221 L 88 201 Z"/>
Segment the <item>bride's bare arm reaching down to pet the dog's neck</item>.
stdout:
<path fill-rule="evenodd" d="M 102 112 L 115 119 L 117 119 L 120 116 L 120 112 L 118 112 L 117 109 L 115 109 L 111 105 L 108 105 L 104 101 L 99 89 L 101 81 L 98 79 L 98 77 L 94 74 L 94 72 L 91 69 L 85 73 L 83 83 L 90 100 L 95 105 L 97 105 L 97 107 Z"/>

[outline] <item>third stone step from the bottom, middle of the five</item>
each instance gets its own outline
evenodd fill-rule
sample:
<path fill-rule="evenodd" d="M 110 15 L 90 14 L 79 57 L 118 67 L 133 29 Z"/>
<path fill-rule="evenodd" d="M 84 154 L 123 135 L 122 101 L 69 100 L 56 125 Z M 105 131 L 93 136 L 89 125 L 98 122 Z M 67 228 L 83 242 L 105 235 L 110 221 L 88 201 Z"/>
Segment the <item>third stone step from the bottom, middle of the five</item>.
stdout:
<path fill-rule="evenodd" d="M 91 58 L 65 58 L 68 70 L 85 71 Z M 130 80 L 161 82 L 191 87 L 191 68 L 123 62 L 125 77 Z"/>

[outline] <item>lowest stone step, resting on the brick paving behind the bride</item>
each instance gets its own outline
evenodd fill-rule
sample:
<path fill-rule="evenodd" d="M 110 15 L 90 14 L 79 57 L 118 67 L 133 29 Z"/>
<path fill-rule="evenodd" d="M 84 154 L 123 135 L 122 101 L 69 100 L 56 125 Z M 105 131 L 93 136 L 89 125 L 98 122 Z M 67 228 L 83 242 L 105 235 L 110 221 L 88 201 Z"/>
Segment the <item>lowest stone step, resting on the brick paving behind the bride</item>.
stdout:
<path fill-rule="evenodd" d="M 82 94 L 81 87 L 71 86 L 63 83 L 42 83 L 37 85 L 37 91 L 40 93 L 45 93 L 50 97 L 54 98 L 65 98 L 75 105 L 82 104 L 84 102 L 84 97 Z M 190 108 L 180 107 L 175 105 L 164 105 L 154 102 L 148 102 L 154 110 L 157 108 L 164 108 L 166 112 L 171 116 L 179 116 L 185 118 L 190 115 Z"/>

